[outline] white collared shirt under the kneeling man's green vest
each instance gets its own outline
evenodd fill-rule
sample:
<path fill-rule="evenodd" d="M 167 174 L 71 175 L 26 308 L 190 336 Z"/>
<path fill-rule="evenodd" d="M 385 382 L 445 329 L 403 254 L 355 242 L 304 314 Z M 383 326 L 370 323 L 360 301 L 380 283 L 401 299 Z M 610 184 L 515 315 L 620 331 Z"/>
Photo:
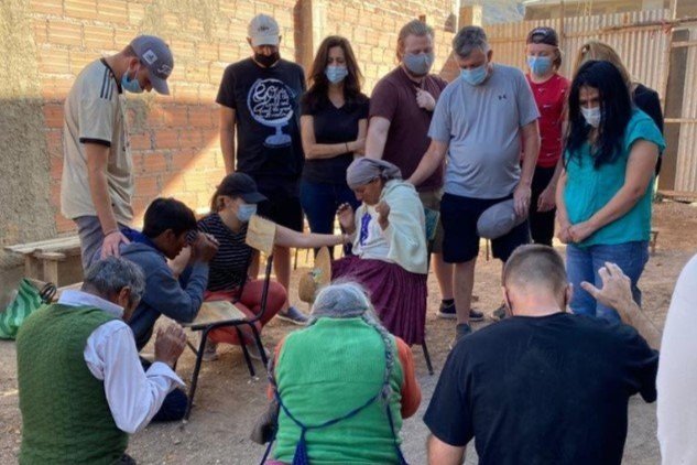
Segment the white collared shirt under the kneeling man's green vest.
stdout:
<path fill-rule="evenodd" d="M 58 303 L 94 306 L 121 318 L 123 309 L 81 291 L 65 291 Z M 87 338 L 85 363 L 95 378 L 104 381 L 109 409 L 119 430 L 129 434 L 142 430 L 157 413 L 165 397 L 184 381 L 166 365 L 155 361 L 143 371 L 131 328 L 121 320 L 99 326 Z"/>

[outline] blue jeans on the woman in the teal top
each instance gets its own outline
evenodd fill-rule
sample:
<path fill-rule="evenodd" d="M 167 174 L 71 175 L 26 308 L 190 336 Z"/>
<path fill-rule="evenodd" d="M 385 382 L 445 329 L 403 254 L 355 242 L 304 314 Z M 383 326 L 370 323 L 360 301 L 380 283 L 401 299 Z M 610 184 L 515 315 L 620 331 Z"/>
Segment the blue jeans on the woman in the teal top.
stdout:
<path fill-rule="evenodd" d="M 620 315 L 617 311 L 600 304 L 580 286 L 581 282 L 588 281 L 601 289 L 602 280 L 598 270 L 605 267 L 606 261 L 617 263 L 629 277 L 632 281 L 634 302 L 641 305 L 641 291 L 636 283 L 649 261 L 649 241 L 641 240 L 613 246 L 599 245 L 587 248 L 580 248 L 573 244 L 566 246 L 566 272 L 569 282 L 574 285 L 574 296 L 570 303 L 574 313 L 620 322 Z"/>

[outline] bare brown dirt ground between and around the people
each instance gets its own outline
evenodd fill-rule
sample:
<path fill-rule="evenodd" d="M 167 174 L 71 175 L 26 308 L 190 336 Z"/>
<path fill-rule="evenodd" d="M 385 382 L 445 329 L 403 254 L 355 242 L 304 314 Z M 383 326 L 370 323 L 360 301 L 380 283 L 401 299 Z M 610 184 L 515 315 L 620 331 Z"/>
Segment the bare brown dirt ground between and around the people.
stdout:
<path fill-rule="evenodd" d="M 656 253 L 652 256 L 641 288 L 644 295 L 644 311 L 658 327 L 663 327 L 673 286 L 677 275 L 697 251 L 697 206 L 677 203 L 656 205 L 654 226 L 660 230 Z M 559 247 L 559 251 L 563 248 Z M 303 271 L 306 256 L 300 252 L 300 263 L 293 273 L 292 300 L 303 310 L 305 304 L 297 301 L 296 281 Z M 500 264 L 487 261 L 483 250 L 477 268 L 475 293 L 480 301 L 477 305 L 484 312 L 495 309 L 500 302 Z M 422 417 L 435 388 L 438 371 L 448 353 L 448 342 L 454 333 L 454 323 L 436 317 L 438 288 L 429 275 L 428 315 L 426 323 L 427 342 L 436 374 L 428 376 L 420 347 L 414 347 L 416 374 L 423 390 L 420 411 L 404 422 L 403 447 L 411 464 L 424 464 L 427 429 Z M 475 324 L 475 329 L 490 324 Z M 296 327 L 280 321 L 272 321 L 263 333 L 264 344 L 273 346 Z M 140 464 L 255 464 L 263 454 L 263 447 L 248 437 L 251 425 L 266 405 L 265 387 L 261 364 L 251 379 L 239 348 L 221 346 L 220 358 L 205 364 L 199 378 L 195 408 L 187 424 L 153 424 L 133 435 L 129 453 Z M 188 381 L 193 371 L 194 356 L 186 352 L 177 371 Z M 12 342 L 0 342 L 0 463 L 17 463 L 21 440 L 21 420 L 18 409 L 15 352 Z M 476 454 L 470 444 L 467 463 L 476 463 Z M 655 403 L 646 404 L 635 397 L 630 401 L 630 424 L 624 464 L 649 465 L 660 463 L 656 441 Z"/>

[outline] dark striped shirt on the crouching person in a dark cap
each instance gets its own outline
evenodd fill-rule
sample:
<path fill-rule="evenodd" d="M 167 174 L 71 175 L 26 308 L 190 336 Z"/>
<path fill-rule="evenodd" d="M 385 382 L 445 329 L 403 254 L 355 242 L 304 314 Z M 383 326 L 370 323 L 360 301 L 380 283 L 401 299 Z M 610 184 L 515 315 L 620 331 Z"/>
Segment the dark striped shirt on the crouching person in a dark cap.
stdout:
<path fill-rule="evenodd" d="M 247 279 L 247 269 L 252 248 L 246 242 L 247 224 L 239 233 L 228 228 L 217 213 L 198 221 L 198 229 L 218 240 L 218 252 L 208 263 L 208 291 L 230 291 L 239 288 Z"/>

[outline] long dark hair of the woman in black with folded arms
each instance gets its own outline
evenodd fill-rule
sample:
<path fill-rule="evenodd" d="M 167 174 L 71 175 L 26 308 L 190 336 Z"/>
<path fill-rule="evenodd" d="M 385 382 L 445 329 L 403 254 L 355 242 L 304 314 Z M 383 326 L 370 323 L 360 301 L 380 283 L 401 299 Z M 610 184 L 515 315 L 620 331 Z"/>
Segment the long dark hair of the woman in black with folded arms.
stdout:
<path fill-rule="evenodd" d="M 303 95 L 302 105 L 304 108 L 311 110 L 317 108 L 318 105 L 327 102 L 329 100 L 329 79 L 325 76 L 325 69 L 327 62 L 329 61 L 329 50 L 338 46 L 344 51 L 346 58 L 346 69 L 348 76 L 344 79 L 344 98 L 349 105 L 362 101 L 366 97 L 361 94 L 360 88 L 363 80 L 363 75 L 358 67 L 356 55 L 353 55 L 353 48 L 351 44 L 345 37 L 339 35 L 329 35 L 322 41 L 313 67 L 309 74 L 309 88 Z"/>

